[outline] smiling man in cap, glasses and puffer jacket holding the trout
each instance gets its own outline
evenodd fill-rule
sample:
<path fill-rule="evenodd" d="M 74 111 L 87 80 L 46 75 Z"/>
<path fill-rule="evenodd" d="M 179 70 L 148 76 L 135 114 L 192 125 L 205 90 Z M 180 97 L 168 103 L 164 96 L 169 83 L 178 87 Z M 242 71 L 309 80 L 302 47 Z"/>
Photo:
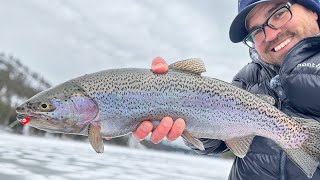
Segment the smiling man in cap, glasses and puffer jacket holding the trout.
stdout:
<path fill-rule="evenodd" d="M 233 84 L 256 94 L 277 99 L 277 107 L 291 116 L 320 120 L 320 2 L 319 0 L 239 0 L 239 14 L 230 28 L 232 42 L 250 48 L 252 62 L 234 77 Z M 167 71 L 162 58 L 152 64 L 155 73 Z M 151 135 L 159 143 L 164 137 L 178 138 L 183 119 L 165 117 Z M 152 130 L 143 122 L 134 136 L 143 139 Z M 213 154 L 228 148 L 220 140 L 200 139 Z M 309 179 L 271 140 L 255 137 L 244 158 L 236 158 L 231 180 Z M 320 179 L 318 168 L 312 179 Z"/>

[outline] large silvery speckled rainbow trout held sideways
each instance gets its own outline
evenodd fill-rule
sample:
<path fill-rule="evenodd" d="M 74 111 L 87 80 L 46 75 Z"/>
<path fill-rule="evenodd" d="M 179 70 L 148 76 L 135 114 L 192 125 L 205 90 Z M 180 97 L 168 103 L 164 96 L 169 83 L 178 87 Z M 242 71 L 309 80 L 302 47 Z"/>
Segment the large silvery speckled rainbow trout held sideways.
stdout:
<path fill-rule="evenodd" d="M 221 139 L 244 157 L 254 136 L 263 136 L 312 177 L 320 157 L 319 122 L 289 117 L 272 98 L 201 76 L 199 59 L 169 67 L 162 75 L 112 69 L 69 80 L 17 107 L 18 119 L 27 117 L 30 126 L 49 132 L 89 136 L 94 150 L 103 152 L 104 137 L 131 133 L 145 119 L 183 118 L 183 137 L 199 149 L 197 138 Z"/>

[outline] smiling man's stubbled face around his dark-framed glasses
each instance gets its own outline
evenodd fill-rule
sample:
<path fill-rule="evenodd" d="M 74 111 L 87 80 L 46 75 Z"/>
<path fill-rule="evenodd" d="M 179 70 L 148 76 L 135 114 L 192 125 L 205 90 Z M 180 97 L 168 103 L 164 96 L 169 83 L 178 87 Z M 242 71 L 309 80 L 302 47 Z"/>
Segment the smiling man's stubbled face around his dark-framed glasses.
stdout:
<path fill-rule="evenodd" d="M 249 32 L 263 24 L 270 14 L 286 1 L 272 1 L 257 5 L 247 17 Z M 280 65 L 288 51 L 305 37 L 320 33 L 318 15 L 299 4 L 291 6 L 292 19 L 279 29 L 265 27 L 266 38 L 255 49 L 261 59 L 269 64 Z"/>

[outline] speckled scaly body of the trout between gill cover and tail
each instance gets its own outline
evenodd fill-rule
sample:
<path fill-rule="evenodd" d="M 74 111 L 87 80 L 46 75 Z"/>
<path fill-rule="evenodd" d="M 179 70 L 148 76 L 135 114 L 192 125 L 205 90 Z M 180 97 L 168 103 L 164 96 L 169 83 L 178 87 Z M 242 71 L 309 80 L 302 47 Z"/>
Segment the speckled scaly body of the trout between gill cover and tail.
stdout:
<path fill-rule="evenodd" d="M 106 137 L 124 133 L 115 131 L 115 134 L 110 134 L 112 126 L 118 127 L 110 120 L 118 120 L 125 127 L 130 124 L 131 129 L 124 129 L 129 133 L 142 120 L 160 120 L 165 115 L 186 119 L 187 124 L 192 124 L 187 128 L 197 129 L 188 129 L 195 137 L 225 140 L 239 134 L 246 136 L 248 131 L 252 133 L 255 130 L 256 135 L 268 131 L 270 135 L 277 134 L 277 138 L 282 138 L 287 135 L 282 129 L 290 130 L 289 126 L 281 127 L 276 124 L 279 120 L 279 123 L 291 121 L 276 119 L 282 113 L 274 107 L 246 91 L 212 78 L 176 71 L 155 75 L 145 69 L 123 69 L 103 71 L 74 81 L 98 102 L 102 133 Z M 194 99 L 190 101 L 190 97 Z M 247 110 L 243 111 L 244 109 Z M 253 114 L 256 118 L 252 118 Z M 132 119 L 135 124 L 132 124 Z M 208 120 L 214 121 L 214 126 L 209 126 L 210 132 L 209 124 L 205 125 Z M 252 129 L 239 128 L 243 122 Z M 226 126 L 230 129 L 225 128 Z M 212 131 L 219 136 L 212 134 Z"/>

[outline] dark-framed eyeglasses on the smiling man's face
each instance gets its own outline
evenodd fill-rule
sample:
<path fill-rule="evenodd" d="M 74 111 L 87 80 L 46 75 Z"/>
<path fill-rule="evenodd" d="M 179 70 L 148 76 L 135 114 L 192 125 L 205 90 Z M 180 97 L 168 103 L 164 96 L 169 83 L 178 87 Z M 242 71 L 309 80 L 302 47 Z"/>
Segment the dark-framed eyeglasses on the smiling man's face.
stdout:
<path fill-rule="evenodd" d="M 279 29 L 292 18 L 292 12 L 290 10 L 293 3 L 287 2 L 286 4 L 275 10 L 269 18 L 259 27 L 253 29 L 244 39 L 243 42 L 250 48 L 260 46 L 266 39 L 265 27 L 268 26 L 271 29 Z"/>

